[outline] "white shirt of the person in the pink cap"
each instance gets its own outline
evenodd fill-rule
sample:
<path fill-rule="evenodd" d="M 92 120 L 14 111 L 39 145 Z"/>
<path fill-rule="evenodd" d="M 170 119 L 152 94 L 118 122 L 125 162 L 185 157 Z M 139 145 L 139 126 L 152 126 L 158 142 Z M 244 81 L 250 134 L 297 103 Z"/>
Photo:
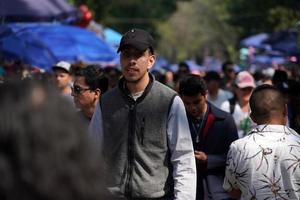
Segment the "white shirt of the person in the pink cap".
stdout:
<path fill-rule="evenodd" d="M 230 103 L 229 101 L 225 101 L 221 105 L 221 110 L 230 113 Z M 235 103 L 234 112 L 232 113 L 232 117 L 234 119 L 236 128 L 238 130 L 239 138 L 247 135 L 248 131 L 255 127 L 254 122 L 251 120 L 249 116 L 249 112 L 242 111 L 242 108 L 238 102 Z"/>

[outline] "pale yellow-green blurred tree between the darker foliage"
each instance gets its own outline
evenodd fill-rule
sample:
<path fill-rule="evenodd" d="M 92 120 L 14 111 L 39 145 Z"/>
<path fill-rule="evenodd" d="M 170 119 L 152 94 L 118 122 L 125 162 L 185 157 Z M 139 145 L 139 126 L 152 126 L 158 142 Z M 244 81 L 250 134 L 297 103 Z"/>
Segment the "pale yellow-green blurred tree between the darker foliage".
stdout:
<path fill-rule="evenodd" d="M 228 14 L 222 0 L 179 2 L 178 10 L 158 26 L 160 50 L 171 60 L 233 54 L 235 32 L 226 22 Z"/>

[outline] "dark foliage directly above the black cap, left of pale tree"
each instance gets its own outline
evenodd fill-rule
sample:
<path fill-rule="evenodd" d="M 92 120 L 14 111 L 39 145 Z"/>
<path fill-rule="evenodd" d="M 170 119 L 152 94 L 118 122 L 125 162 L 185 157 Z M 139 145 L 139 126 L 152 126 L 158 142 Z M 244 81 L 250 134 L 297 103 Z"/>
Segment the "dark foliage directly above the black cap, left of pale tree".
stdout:
<path fill-rule="evenodd" d="M 176 10 L 176 0 L 72 0 L 86 4 L 97 22 L 124 33 L 132 27 L 144 28 L 156 34 L 155 24 Z"/>

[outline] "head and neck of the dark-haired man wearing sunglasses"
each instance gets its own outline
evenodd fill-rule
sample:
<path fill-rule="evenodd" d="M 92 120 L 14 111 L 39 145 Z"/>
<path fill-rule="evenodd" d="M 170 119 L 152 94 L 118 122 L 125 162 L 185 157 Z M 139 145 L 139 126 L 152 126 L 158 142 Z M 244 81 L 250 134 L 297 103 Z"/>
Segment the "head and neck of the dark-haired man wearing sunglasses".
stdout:
<path fill-rule="evenodd" d="M 72 96 L 75 106 L 89 122 L 94 114 L 100 96 L 108 89 L 108 78 L 104 70 L 89 65 L 75 71 Z"/>

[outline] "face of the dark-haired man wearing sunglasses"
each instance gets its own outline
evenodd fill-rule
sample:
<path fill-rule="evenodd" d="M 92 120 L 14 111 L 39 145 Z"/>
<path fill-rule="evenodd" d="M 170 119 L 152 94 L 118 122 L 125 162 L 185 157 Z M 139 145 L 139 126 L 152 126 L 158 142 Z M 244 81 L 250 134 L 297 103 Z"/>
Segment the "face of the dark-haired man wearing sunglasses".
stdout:
<path fill-rule="evenodd" d="M 85 82 L 85 77 L 75 77 L 72 96 L 74 97 L 74 103 L 77 108 L 88 110 L 93 107 L 99 98 L 97 94 L 96 91 L 90 90 L 90 87 Z"/>

